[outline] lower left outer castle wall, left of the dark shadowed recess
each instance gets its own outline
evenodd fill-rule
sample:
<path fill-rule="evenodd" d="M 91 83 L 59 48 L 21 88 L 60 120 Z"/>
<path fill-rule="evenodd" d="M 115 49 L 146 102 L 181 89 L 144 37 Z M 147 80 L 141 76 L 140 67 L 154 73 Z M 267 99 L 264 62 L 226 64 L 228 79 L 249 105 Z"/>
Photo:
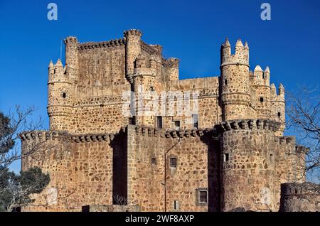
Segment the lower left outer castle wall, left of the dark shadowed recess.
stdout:
<path fill-rule="evenodd" d="M 41 132 L 43 134 L 43 132 Z M 50 134 L 45 139 L 23 134 L 23 150 L 41 147 L 22 161 L 22 170 L 39 166 L 50 183 L 34 195 L 36 203 L 23 211 L 80 211 L 83 205 L 112 205 L 113 153 L 124 149 L 114 135 L 67 136 Z M 45 151 L 40 151 L 45 150 Z"/>

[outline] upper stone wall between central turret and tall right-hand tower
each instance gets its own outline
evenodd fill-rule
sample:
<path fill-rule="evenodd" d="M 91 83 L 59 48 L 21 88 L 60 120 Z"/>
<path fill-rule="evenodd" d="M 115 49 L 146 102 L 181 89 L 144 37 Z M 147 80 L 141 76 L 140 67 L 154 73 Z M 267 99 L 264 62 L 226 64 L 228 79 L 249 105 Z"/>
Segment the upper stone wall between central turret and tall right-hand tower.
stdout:
<path fill-rule="evenodd" d="M 181 121 L 182 129 L 193 129 L 192 114 L 198 114 L 198 128 L 210 128 L 213 124 L 220 122 L 221 109 L 218 103 L 218 77 L 204 77 L 186 80 L 173 80 L 159 84 L 159 92 L 180 92 L 181 97 L 190 95 L 188 107 L 190 113 L 186 114 L 186 106 L 183 109 L 183 115 L 177 111 L 178 100 L 171 98 L 166 105 L 166 109 L 175 109 L 172 116 L 166 114 L 166 128 L 175 129 L 174 121 Z M 193 96 L 196 99 L 193 99 Z M 186 102 L 187 103 L 187 102 Z M 169 111 L 166 112 L 169 112 Z M 159 103 L 159 112 L 161 112 L 161 102 Z"/>

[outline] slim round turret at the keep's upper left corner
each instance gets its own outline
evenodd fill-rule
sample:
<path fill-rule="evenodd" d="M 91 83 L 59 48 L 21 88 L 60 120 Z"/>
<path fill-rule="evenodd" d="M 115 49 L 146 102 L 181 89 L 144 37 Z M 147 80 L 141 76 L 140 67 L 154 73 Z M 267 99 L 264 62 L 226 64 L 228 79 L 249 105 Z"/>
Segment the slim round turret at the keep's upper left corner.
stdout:
<path fill-rule="evenodd" d="M 66 73 L 70 81 L 78 82 L 78 39 L 70 36 L 65 38 L 64 43 Z"/>

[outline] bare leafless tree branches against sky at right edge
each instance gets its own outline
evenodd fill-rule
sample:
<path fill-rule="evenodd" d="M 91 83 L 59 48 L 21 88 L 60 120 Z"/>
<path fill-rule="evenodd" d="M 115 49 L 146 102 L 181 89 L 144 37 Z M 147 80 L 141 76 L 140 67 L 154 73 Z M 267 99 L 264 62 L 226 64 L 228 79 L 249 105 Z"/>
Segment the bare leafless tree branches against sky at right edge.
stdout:
<path fill-rule="evenodd" d="M 297 143 L 309 149 L 306 153 L 306 176 L 320 180 L 320 94 L 319 87 L 298 85 L 298 92 L 287 92 L 287 129 L 294 131 Z"/>

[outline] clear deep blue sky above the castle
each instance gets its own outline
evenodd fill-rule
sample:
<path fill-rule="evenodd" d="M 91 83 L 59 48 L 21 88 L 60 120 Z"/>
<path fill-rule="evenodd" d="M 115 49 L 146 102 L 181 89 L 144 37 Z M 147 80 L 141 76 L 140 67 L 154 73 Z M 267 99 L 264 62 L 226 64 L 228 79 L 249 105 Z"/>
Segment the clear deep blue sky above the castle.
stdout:
<path fill-rule="evenodd" d="M 58 5 L 58 21 L 47 19 L 50 2 Z M 271 5 L 271 21 L 260 18 L 263 2 Z M 238 38 L 249 43 L 252 69 L 270 66 L 277 86 L 319 85 L 317 0 L 1 0 L 0 110 L 36 106 L 48 127 L 47 67 L 58 60 L 63 38 L 106 41 L 129 28 L 140 29 L 146 43 L 163 45 L 166 57 L 180 58 L 181 79 L 219 75 L 220 45 L 228 36 L 232 45 Z"/>

